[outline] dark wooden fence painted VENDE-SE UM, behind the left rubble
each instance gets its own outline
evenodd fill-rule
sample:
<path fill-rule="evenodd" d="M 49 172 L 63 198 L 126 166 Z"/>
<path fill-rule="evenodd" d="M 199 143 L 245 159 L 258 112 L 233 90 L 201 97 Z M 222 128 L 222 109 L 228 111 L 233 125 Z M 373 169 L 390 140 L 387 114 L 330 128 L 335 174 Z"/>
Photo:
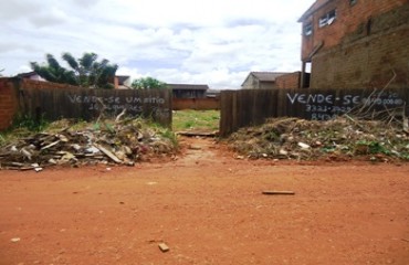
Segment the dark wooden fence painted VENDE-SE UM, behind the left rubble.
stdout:
<path fill-rule="evenodd" d="M 45 82 L 42 82 L 45 83 Z M 19 112 L 49 120 L 82 118 L 91 120 L 101 115 L 116 116 L 126 109 L 127 115 L 151 118 L 171 126 L 171 91 L 169 89 L 90 89 L 61 87 L 46 82 L 19 84 Z"/>

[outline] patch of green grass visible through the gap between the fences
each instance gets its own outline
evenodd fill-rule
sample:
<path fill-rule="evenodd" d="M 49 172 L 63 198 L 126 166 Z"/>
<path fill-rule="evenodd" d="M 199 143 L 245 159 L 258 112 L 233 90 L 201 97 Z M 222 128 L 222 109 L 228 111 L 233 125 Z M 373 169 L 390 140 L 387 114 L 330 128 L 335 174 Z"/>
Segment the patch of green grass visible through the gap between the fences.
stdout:
<path fill-rule="evenodd" d="M 177 110 L 174 113 L 174 131 L 219 129 L 220 110 Z"/>

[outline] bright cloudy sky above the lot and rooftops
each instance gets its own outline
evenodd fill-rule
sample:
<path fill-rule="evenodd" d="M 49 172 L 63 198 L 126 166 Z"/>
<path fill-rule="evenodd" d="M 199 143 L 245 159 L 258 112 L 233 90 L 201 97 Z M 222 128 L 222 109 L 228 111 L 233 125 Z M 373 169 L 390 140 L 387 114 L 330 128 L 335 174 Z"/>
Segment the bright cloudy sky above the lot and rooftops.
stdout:
<path fill-rule="evenodd" d="M 98 54 L 118 75 L 240 88 L 252 71 L 301 70 L 301 24 L 315 0 L 0 0 L 0 74 L 45 54 Z"/>

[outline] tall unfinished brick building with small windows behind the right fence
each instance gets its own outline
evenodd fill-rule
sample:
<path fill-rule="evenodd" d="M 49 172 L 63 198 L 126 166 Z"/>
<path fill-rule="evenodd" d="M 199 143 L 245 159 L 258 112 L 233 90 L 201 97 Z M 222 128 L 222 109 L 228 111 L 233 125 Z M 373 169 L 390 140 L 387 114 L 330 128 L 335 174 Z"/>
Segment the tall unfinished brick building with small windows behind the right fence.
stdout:
<path fill-rule="evenodd" d="M 408 0 L 317 0 L 298 22 L 302 87 L 409 87 Z"/>

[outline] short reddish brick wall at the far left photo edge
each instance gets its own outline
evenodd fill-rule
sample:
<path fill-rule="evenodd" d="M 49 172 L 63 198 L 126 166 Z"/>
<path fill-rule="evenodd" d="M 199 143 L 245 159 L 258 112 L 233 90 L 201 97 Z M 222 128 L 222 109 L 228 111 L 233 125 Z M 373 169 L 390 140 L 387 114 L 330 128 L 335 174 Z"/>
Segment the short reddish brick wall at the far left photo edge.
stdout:
<path fill-rule="evenodd" d="M 9 78 L 0 78 L 0 130 L 9 128 L 18 110 L 17 89 Z"/>

